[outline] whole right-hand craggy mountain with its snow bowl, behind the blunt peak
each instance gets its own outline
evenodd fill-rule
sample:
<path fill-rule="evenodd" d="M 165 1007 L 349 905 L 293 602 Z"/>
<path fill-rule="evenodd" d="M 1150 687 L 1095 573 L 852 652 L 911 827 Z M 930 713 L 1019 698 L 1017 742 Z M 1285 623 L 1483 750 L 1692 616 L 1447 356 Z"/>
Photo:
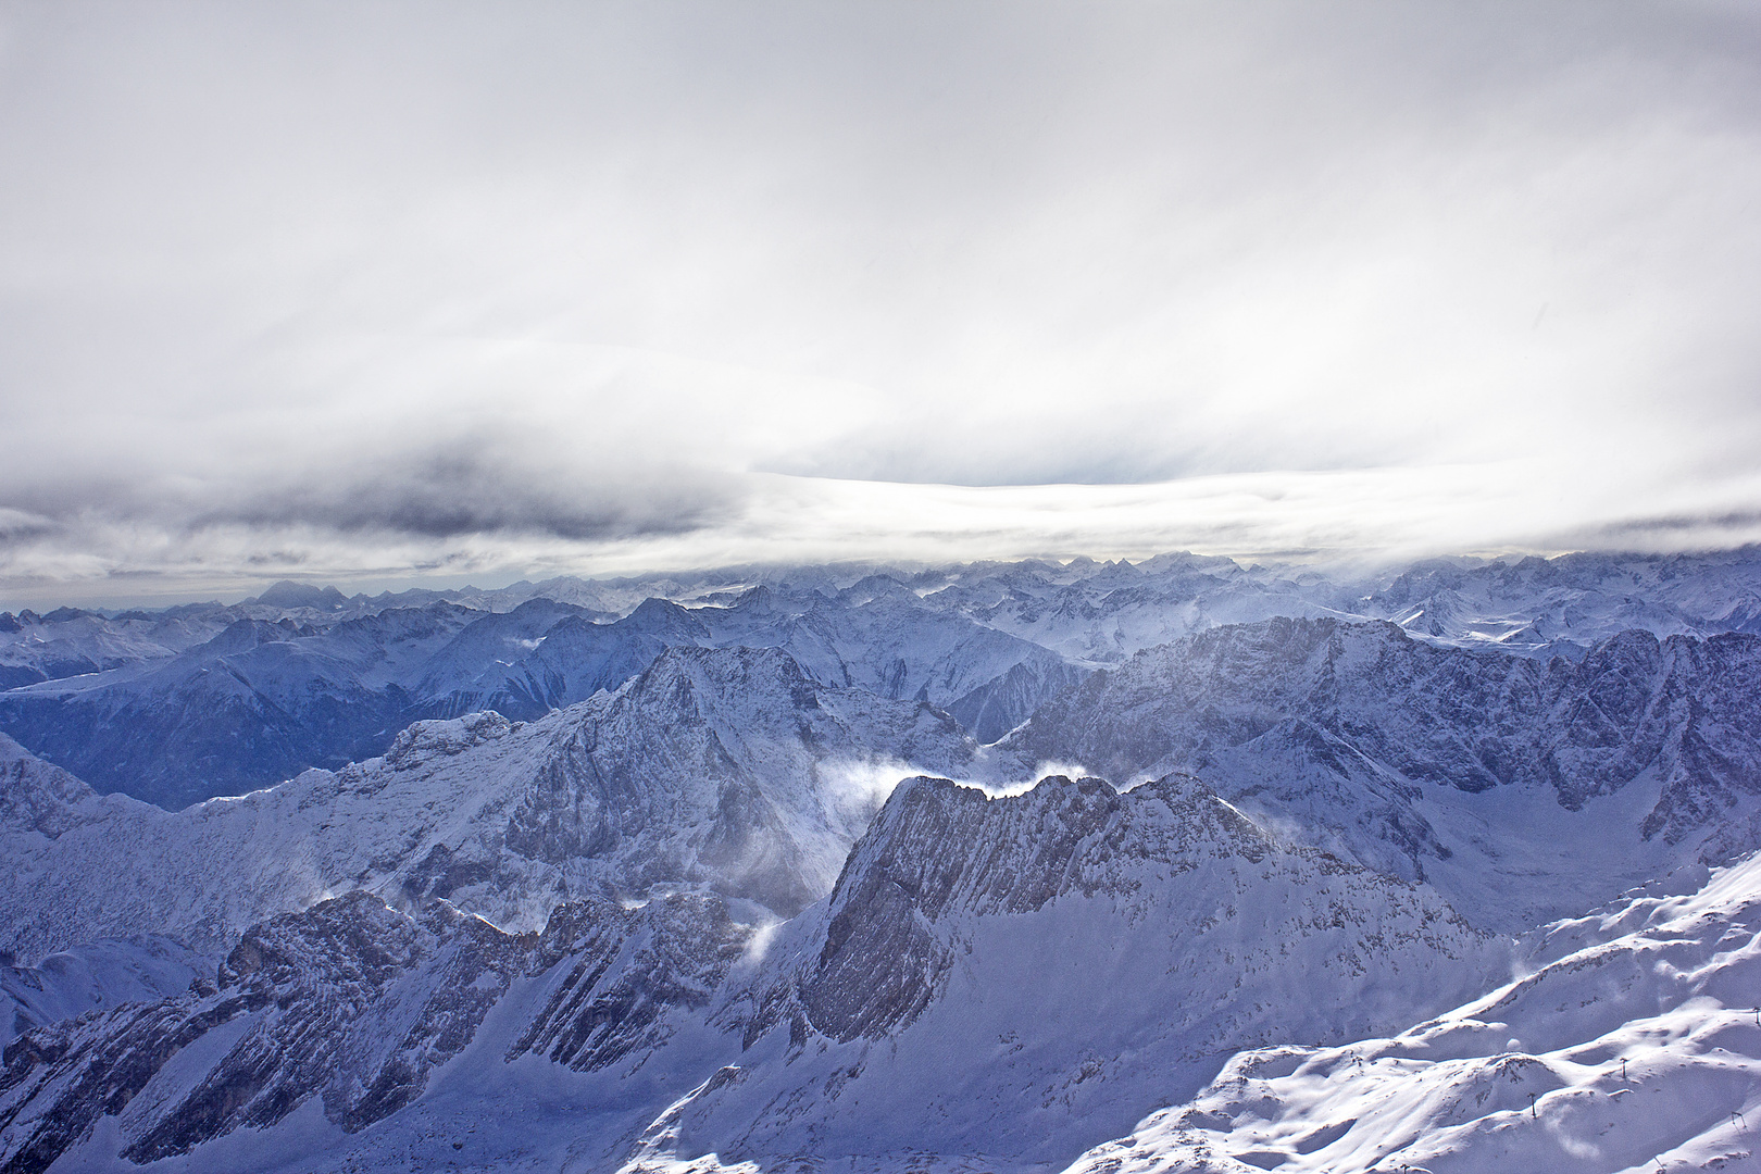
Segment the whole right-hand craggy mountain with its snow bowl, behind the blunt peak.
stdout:
<path fill-rule="evenodd" d="M 1192 771 L 1520 931 L 1761 847 L 1761 637 L 1627 632 L 1543 664 L 1391 623 L 1268 620 L 1138 653 L 1000 750 Z"/>

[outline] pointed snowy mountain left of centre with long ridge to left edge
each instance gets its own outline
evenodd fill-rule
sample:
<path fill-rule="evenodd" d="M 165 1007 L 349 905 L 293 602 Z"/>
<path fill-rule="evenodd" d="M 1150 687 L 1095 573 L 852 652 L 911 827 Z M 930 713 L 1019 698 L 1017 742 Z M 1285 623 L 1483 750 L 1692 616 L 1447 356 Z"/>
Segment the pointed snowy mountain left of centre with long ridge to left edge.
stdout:
<path fill-rule="evenodd" d="M 794 912 L 912 769 L 974 743 L 923 702 L 828 688 L 780 651 L 673 649 L 532 723 L 419 722 L 380 757 L 162 811 L 16 746 L 0 906 L 21 959 L 166 933 L 220 950 L 262 917 L 372 889 L 542 926 L 571 894 L 711 887 Z"/>

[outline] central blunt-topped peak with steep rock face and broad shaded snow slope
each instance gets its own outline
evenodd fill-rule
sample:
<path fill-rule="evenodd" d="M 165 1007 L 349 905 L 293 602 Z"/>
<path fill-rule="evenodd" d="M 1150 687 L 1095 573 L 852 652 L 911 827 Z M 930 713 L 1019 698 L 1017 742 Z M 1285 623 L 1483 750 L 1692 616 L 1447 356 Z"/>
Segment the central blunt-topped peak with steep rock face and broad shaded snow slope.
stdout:
<path fill-rule="evenodd" d="M 1192 780 L 914 780 L 731 982 L 747 1053 L 673 1107 L 666 1158 L 1032 1169 L 1238 1040 L 1351 1038 L 1506 965 L 1433 896 L 1284 848 Z"/>

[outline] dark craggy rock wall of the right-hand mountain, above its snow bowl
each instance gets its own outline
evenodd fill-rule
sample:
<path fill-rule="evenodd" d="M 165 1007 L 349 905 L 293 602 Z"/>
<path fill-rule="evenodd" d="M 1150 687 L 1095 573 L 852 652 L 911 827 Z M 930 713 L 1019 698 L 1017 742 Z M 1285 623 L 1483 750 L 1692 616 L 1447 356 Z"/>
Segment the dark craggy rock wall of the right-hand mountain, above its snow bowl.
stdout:
<path fill-rule="evenodd" d="M 1657 769 L 1645 834 L 1680 838 L 1761 790 L 1761 639 L 1625 632 L 1580 662 L 1541 664 L 1423 644 L 1389 623 L 1268 620 L 1138 653 L 1011 746 L 1129 778 L 1203 771 L 1293 720 L 1412 783 L 1544 783 L 1569 810 Z"/>

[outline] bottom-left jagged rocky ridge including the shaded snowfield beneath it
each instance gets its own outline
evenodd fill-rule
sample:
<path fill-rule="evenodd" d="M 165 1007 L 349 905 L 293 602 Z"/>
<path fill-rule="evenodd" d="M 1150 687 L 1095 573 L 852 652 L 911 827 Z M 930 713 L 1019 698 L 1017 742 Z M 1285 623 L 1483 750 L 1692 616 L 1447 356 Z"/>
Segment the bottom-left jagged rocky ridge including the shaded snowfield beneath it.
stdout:
<path fill-rule="evenodd" d="M 578 1123 L 664 1104 L 680 1077 L 650 1053 L 701 1021 L 748 936 L 718 898 L 689 894 L 572 903 L 528 935 L 366 892 L 284 914 L 178 998 L 19 1038 L 0 1070 L 0 1169 L 386 1169 L 387 1148 L 412 1146 L 430 1156 L 405 1162 L 444 1169 L 465 1139 L 465 1169 L 565 1153 Z M 560 1090 L 585 1112 L 534 1134 L 532 1093 L 551 1107 Z"/>

